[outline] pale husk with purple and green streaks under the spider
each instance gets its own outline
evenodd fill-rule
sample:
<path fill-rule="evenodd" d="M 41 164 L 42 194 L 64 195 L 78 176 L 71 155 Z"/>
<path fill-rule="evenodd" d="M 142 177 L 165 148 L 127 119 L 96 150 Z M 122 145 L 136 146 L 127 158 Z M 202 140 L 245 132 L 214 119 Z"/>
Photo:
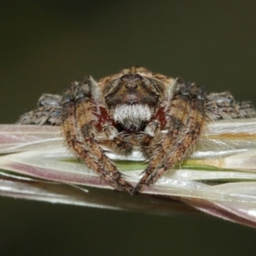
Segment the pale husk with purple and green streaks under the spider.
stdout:
<path fill-rule="evenodd" d="M 116 154 L 108 143 L 102 147 L 127 180 L 137 183 L 146 167 L 143 154 Z M 0 125 L 0 154 L 0 195 L 157 214 L 193 212 L 177 211 L 177 203 L 164 196 L 256 227 L 256 119 L 209 124 L 193 154 L 140 196 L 106 190 L 113 188 L 76 159 L 60 127 Z M 146 194 L 154 195 L 158 207 Z"/>

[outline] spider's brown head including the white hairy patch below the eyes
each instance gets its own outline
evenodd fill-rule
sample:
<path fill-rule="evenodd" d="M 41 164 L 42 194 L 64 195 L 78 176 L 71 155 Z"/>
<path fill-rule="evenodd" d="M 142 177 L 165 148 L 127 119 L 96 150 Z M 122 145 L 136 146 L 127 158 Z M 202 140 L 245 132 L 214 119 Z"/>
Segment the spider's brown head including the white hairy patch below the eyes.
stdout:
<path fill-rule="evenodd" d="M 105 87 L 105 102 L 113 119 L 127 130 L 141 130 L 160 105 L 163 85 L 141 73 L 125 73 Z"/>

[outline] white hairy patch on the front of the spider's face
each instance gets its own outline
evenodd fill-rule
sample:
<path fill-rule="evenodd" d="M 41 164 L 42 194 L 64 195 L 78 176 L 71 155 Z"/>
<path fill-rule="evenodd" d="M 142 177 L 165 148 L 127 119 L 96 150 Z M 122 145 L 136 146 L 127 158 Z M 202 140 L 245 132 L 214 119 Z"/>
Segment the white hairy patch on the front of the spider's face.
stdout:
<path fill-rule="evenodd" d="M 138 130 L 143 122 L 150 120 L 152 116 L 148 105 L 118 105 L 113 110 L 113 119 L 116 123 L 123 125 L 126 129 Z"/>

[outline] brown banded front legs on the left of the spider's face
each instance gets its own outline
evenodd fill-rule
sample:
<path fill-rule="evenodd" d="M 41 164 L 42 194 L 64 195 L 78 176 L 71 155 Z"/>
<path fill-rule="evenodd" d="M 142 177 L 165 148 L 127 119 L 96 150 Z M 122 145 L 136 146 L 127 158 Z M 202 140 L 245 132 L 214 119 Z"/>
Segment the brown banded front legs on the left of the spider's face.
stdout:
<path fill-rule="evenodd" d="M 133 193 L 132 185 L 104 154 L 96 141 L 96 82 L 87 78 L 73 83 L 62 98 L 62 122 L 67 144 L 84 163 L 114 188 Z"/>

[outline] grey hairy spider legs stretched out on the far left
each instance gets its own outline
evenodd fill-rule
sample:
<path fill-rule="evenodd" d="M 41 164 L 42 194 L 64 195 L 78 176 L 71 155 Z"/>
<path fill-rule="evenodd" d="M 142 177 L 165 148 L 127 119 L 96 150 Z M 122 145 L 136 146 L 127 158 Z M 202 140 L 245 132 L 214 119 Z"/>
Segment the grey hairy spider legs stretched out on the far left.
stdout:
<path fill-rule="evenodd" d="M 18 125 L 61 125 L 61 96 L 44 94 L 38 100 L 38 108 L 24 113 Z"/>

